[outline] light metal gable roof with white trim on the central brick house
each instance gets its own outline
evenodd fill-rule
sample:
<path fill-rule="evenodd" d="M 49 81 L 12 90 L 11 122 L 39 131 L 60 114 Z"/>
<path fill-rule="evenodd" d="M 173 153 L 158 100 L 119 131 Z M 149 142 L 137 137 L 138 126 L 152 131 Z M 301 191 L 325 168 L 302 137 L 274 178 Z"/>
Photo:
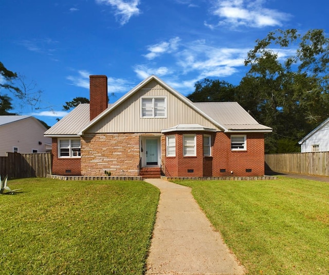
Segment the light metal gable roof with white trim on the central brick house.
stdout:
<path fill-rule="evenodd" d="M 216 103 L 193 103 L 186 96 L 180 94 L 168 84 L 160 80 L 155 75 L 151 75 L 144 81 L 135 86 L 132 90 L 123 95 L 114 104 L 109 104 L 108 108 L 96 116 L 92 121 L 89 121 L 89 104 L 80 104 L 68 115 L 63 117 L 57 124 L 52 126 L 45 135 L 48 136 L 63 136 L 63 135 L 83 135 L 83 133 L 100 121 L 105 115 L 114 110 L 117 106 L 123 103 L 126 99 L 132 96 L 144 85 L 155 80 L 160 85 L 165 87 L 171 93 L 178 97 L 182 102 L 190 106 L 193 110 L 203 115 L 218 128 L 225 132 L 241 132 L 241 131 L 259 131 L 271 132 L 272 128 L 259 124 L 252 118 L 236 102 L 216 102 Z"/>

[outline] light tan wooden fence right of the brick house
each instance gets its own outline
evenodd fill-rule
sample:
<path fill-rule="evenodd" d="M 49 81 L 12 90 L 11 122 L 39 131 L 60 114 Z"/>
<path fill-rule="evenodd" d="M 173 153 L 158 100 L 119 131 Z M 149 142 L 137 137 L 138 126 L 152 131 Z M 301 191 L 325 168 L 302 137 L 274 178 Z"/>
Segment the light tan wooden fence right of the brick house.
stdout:
<path fill-rule="evenodd" d="M 265 170 L 329 176 L 329 152 L 266 154 Z"/>

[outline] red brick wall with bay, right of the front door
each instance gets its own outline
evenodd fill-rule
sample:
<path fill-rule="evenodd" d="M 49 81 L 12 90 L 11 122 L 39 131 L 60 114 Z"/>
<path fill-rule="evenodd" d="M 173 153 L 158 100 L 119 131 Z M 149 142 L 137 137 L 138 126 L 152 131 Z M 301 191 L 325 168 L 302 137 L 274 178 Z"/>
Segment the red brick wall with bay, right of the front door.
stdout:
<path fill-rule="evenodd" d="M 196 134 L 196 156 L 183 156 L 182 135 L 176 133 L 176 156 L 162 157 L 166 176 L 259 176 L 264 175 L 264 134 L 247 133 L 247 150 L 232 151 L 230 134 L 212 135 L 212 156 L 203 156 L 203 134 Z M 243 134 L 243 133 L 242 133 Z M 165 146 L 166 148 L 166 146 Z M 165 149 L 163 149 L 165 150 Z M 222 171 L 221 171 L 222 169 Z M 251 169 L 251 171 L 246 171 Z M 188 172 L 193 170 L 193 172 Z M 232 171 L 232 173 L 231 173 Z"/>

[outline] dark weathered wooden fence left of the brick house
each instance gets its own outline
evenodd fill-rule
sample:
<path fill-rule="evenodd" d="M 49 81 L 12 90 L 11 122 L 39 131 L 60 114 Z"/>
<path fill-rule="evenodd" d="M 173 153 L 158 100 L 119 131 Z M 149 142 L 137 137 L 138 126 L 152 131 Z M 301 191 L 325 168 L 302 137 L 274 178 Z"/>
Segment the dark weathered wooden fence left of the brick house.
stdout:
<path fill-rule="evenodd" d="M 1 178 L 45 178 L 51 174 L 51 153 L 7 153 L 0 156 Z"/>

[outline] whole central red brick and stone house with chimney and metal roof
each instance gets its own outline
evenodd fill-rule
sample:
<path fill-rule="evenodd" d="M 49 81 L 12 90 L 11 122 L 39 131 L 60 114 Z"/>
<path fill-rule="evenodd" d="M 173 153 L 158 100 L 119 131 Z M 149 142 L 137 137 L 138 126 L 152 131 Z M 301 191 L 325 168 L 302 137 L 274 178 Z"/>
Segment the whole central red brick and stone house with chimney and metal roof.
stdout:
<path fill-rule="evenodd" d="M 58 175 L 264 175 L 264 134 L 236 102 L 192 103 L 150 76 L 114 104 L 107 77 L 90 76 L 90 104 L 80 104 L 45 132 Z"/>

